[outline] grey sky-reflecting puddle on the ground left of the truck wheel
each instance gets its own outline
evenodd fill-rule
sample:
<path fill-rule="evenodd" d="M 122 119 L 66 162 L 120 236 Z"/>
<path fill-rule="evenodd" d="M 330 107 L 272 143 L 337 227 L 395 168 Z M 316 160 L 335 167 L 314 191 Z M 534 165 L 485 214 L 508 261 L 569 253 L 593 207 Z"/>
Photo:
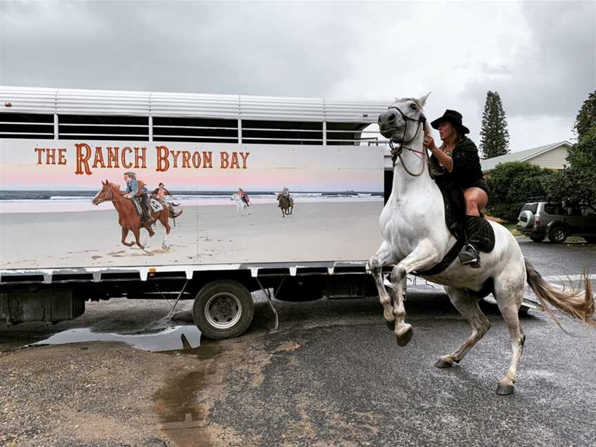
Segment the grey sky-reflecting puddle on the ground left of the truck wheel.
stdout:
<path fill-rule="evenodd" d="M 84 341 L 123 341 L 133 348 L 152 352 L 188 350 L 192 352 L 201 345 L 201 331 L 197 326 L 174 326 L 159 332 L 142 334 L 116 334 L 113 332 L 91 332 L 88 328 L 64 330 L 28 346 L 82 343 Z M 201 348 L 201 351 L 203 349 Z M 186 352 L 185 352 L 186 353 Z"/>

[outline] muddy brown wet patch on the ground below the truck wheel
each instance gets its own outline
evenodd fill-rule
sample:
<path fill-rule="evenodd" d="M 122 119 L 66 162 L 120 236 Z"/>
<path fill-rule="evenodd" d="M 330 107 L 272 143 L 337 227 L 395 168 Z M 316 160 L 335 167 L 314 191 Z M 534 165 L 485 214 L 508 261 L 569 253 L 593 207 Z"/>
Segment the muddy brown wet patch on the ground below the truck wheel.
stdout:
<path fill-rule="evenodd" d="M 155 393 L 155 412 L 159 428 L 180 447 L 207 447 L 211 445 L 205 432 L 209 407 L 201 404 L 197 393 L 208 386 L 209 378 L 217 374 L 214 359 L 224 349 L 217 344 L 203 344 L 193 354 L 200 359 L 197 369 L 185 375 L 172 377 L 166 386 Z"/>

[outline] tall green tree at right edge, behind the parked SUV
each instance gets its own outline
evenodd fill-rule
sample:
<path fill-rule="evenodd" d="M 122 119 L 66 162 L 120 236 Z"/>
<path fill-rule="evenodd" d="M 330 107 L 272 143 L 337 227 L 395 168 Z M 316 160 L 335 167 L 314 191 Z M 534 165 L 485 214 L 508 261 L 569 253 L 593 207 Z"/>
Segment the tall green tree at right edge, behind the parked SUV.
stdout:
<path fill-rule="evenodd" d="M 577 143 L 570 148 L 567 164 L 547 186 L 555 199 L 596 203 L 596 90 L 588 95 L 575 117 Z"/>

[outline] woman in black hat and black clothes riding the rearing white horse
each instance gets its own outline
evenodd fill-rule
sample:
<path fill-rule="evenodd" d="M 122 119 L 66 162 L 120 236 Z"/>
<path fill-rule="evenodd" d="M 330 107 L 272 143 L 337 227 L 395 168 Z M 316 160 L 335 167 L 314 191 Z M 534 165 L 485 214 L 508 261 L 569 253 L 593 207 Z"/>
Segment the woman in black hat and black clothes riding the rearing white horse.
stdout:
<path fill-rule="evenodd" d="M 490 191 L 482 175 L 478 149 L 466 137 L 470 130 L 461 123 L 461 118 L 461 113 L 445 110 L 442 117 L 430 123 L 430 126 L 439 130 L 443 144 L 437 148 L 433 137 L 426 135 L 424 146 L 433 152 L 430 163 L 435 170 L 442 171 L 441 177 L 446 177 L 454 186 L 464 190 L 468 244 L 462 248 L 459 259 L 461 264 L 478 268 L 480 257 L 475 246 L 480 241 L 479 229 L 483 219 L 481 213 L 488 204 Z"/>

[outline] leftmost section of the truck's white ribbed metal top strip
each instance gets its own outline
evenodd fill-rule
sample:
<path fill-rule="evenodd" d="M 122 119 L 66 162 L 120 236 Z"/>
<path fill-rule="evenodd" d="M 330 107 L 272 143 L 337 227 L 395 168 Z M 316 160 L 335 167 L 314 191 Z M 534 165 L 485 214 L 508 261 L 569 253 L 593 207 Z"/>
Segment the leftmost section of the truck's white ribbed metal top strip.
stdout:
<path fill-rule="evenodd" d="M 8 113 L 54 113 L 56 88 L 0 86 L 0 111 Z M 10 103 L 10 106 L 7 106 Z"/>

